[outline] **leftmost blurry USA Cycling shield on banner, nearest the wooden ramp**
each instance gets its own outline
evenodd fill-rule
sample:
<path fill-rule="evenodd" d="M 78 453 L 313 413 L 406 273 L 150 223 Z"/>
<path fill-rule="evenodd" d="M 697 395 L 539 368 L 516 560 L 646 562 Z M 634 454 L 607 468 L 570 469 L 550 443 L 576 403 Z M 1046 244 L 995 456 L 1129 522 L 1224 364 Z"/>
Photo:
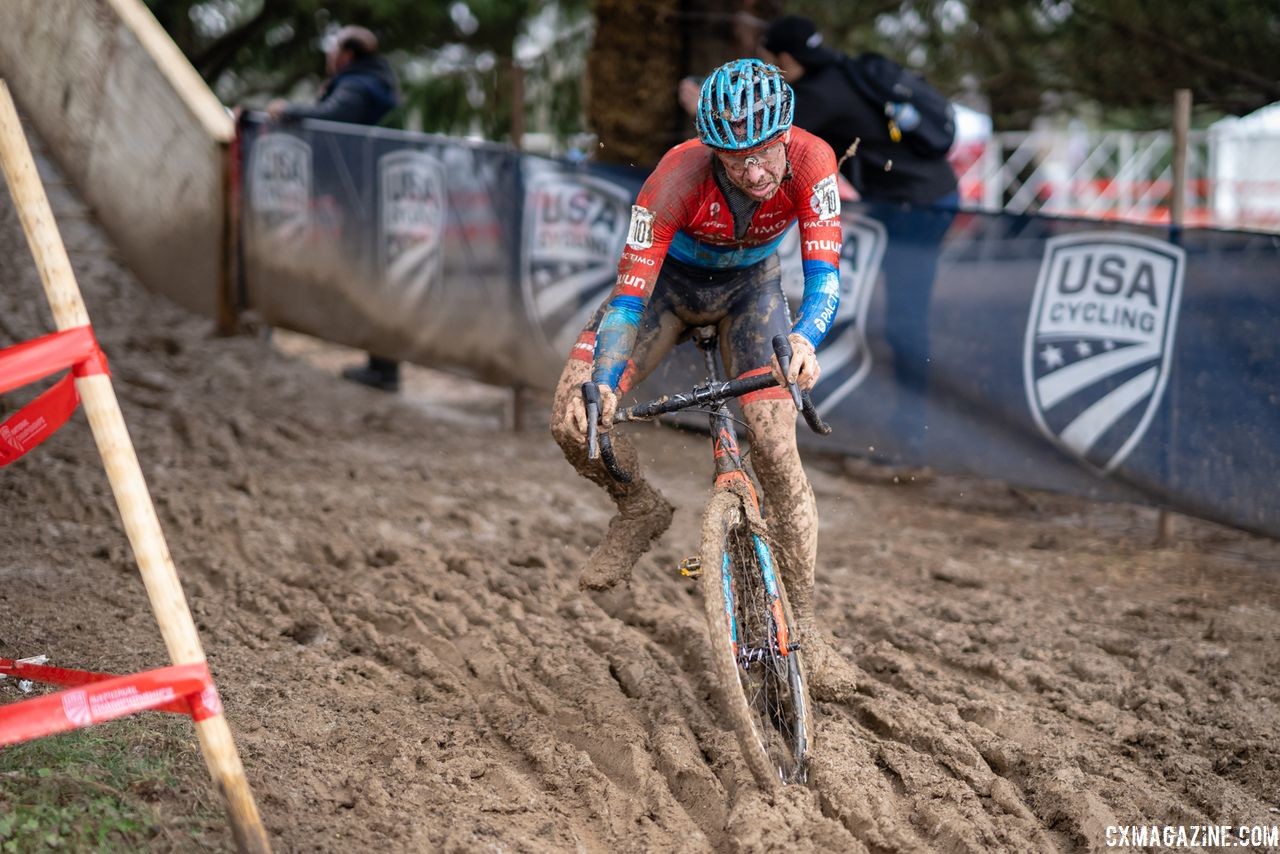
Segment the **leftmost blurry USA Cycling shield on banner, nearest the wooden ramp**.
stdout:
<path fill-rule="evenodd" d="M 275 239 L 300 239 L 311 223 L 311 146 L 288 133 L 253 141 L 248 205 Z"/>

